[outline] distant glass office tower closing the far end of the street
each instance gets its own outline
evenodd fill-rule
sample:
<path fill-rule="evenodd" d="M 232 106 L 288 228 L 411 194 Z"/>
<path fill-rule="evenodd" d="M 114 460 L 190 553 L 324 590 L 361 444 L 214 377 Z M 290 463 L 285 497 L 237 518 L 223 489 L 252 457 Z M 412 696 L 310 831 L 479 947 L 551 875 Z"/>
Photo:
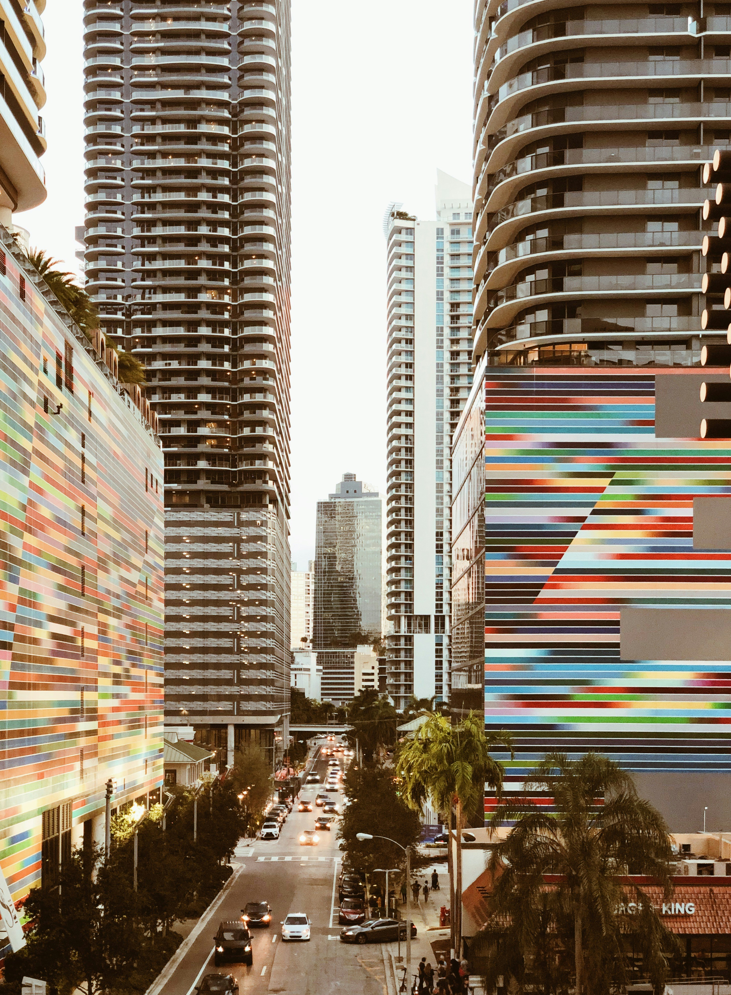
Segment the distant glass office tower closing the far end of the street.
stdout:
<path fill-rule="evenodd" d="M 334 700 L 329 693 L 339 700 L 357 694 L 357 649 L 363 653 L 361 646 L 381 637 L 382 505 L 355 474 L 345 474 L 335 494 L 318 501 L 313 647 L 326 700 Z M 334 675 L 336 684 L 329 683 Z"/>

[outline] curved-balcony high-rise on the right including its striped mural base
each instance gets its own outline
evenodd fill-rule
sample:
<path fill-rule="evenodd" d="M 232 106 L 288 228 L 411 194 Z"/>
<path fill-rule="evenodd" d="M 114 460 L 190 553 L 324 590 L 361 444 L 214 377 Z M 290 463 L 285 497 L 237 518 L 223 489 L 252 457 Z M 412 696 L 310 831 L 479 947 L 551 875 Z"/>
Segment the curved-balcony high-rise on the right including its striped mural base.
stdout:
<path fill-rule="evenodd" d="M 512 729 L 513 786 L 598 750 L 683 830 L 700 797 L 731 817 L 731 558 L 701 527 L 728 449 L 700 441 L 698 398 L 728 370 L 692 368 L 731 16 L 697 13 L 477 3 L 476 371 L 452 449 L 453 707 Z"/>

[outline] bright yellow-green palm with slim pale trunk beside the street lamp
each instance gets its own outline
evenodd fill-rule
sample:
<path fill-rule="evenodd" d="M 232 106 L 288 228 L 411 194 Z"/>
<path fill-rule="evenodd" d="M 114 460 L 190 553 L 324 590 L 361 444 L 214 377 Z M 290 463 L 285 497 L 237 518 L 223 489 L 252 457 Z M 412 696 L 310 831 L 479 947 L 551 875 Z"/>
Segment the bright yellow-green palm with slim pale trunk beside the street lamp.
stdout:
<path fill-rule="evenodd" d="M 504 768 L 490 755 L 502 743 L 511 749 L 509 733 L 485 734 L 485 720 L 480 713 L 470 713 L 456 725 L 443 715 L 432 713 L 416 730 L 413 739 L 398 754 L 396 773 L 403 781 L 403 797 L 411 808 L 422 812 L 431 802 L 451 824 L 456 810 L 456 874 L 452 896 L 452 945 L 461 953 L 462 946 L 462 830 L 465 818 L 484 818 L 485 785 L 502 790 Z M 449 878 L 451 873 L 449 847 Z M 455 944 L 456 940 L 456 944 Z"/>

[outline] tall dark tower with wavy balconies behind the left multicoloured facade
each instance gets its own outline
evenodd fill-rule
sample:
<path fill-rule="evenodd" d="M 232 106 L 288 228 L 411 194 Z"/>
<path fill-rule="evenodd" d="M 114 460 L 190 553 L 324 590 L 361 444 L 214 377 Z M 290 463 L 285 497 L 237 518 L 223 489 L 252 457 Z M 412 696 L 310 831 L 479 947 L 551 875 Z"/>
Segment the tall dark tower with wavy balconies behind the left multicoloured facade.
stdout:
<path fill-rule="evenodd" d="M 164 440 L 166 720 L 230 761 L 286 740 L 290 3 L 85 11 L 87 289 Z"/>

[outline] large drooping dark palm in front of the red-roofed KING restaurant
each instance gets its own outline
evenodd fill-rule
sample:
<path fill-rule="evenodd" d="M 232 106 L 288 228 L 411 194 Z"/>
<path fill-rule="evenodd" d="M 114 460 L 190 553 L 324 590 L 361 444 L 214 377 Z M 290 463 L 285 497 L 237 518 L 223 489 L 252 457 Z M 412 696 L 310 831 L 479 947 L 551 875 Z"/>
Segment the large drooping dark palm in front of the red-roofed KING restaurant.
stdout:
<path fill-rule="evenodd" d="M 553 798 L 555 811 L 537 806 L 536 793 Z M 641 887 L 620 876 L 649 876 L 669 895 L 672 853 L 662 817 L 637 796 L 629 774 L 596 753 L 551 753 L 524 799 L 500 806 L 491 826 L 506 822 L 514 825 L 490 856 L 491 915 L 476 940 L 488 958 L 487 988 L 503 974 L 519 989 L 558 991 L 557 964 L 568 960 L 563 976 L 573 966 L 576 995 L 599 995 L 624 981 L 622 934 L 630 932 L 661 985 L 672 939 Z M 547 875 L 556 876 L 550 888 Z M 627 890 L 634 915 L 623 911 Z"/>

